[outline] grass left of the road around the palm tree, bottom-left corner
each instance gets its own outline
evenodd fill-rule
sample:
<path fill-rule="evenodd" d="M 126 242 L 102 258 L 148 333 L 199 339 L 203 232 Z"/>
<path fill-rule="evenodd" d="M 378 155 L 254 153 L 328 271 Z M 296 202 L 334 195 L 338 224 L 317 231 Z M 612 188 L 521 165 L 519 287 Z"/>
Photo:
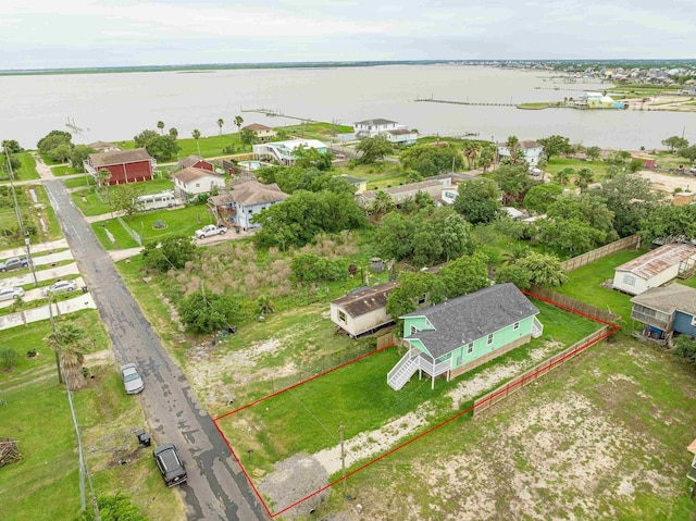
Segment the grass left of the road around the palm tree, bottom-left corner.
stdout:
<path fill-rule="evenodd" d="M 145 420 L 137 401 L 123 392 L 99 314 L 83 311 L 63 320 L 83 327 L 90 338 L 85 367 L 95 377 L 73 397 L 96 494 L 122 491 L 149 519 L 164 519 L 171 509 L 181 512 L 181 501 L 162 485 L 149 451 L 137 448 L 132 429 Z M 79 510 L 75 431 L 53 352 L 44 340 L 49 332 L 48 321 L 0 332 L 0 343 L 21 353 L 13 370 L 0 372 L 0 435 L 16 439 L 22 452 L 20 462 L 0 472 L 3 521 L 70 520 Z M 29 349 L 39 355 L 25 357 Z M 121 457 L 132 463 L 119 464 Z"/>

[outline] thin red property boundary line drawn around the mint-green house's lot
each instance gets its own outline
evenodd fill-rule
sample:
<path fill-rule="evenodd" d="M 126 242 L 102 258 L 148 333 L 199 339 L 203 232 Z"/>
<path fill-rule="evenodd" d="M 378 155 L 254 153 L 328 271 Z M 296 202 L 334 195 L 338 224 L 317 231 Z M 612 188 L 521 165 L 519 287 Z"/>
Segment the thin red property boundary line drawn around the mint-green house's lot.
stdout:
<path fill-rule="evenodd" d="M 272 398 L 272 397 L 277 396 L 277 395 L 282 394 L 282 393 L 285 393 L 285 392 L 290 390 L 290 389 L 293 389 L 293 388 L 295 388 L 295 387 L 298 387 L 299 385 L 302 385 L 302 384 L 306 384 L 306 383 L 308 383 L 308 382 L 311 382 L 312 380 L 315 380 L 315 379 L 318 379 L 319 376 L 323 376 L 324 374 L 328 374 L 328 373 L 331 373 L 331 372 L 333 372 L 333 371 L 336 371 L 337 369 L 344 368 L 344 367 L 346 367 L 346 365 L 350 365 L 351 363 L 355 363 L 355 362 L 357 362 L 357 361 L 359 361 L 359 360 L 362 360 L 363 358 L 370 357 L 370 356 L 372 356 L 372 355 L 376 355 L 376 353 L 377 353 L 377 352 L 380 352 L 380 351 L 383 351 L 383 350 L 385 350 L 385 349 L 387 349 L 387 348 L 389 348 L 389 347 L 393 347 L 393 345 L 389 345 L 389 346 L 383 347 L 383 348 L 381 348 L 381 349 L 377 349 L 377 350 L 375 350 L 375 351 L 369 352 L 369 353 L 366 353 L 366 355 L 362 355 L 362 356 L 360 356 L 360 357 L 356 358 L 355 360 L 350 360 L 350 361 L 348 361 L 348 362 L 341 363 L 340 365 L 338 365 L 338 367 L 336 367 L 336 368 L 334 368 L 334 369 L 331 369 L 331 370 L 328 370 L 328 371 L 325 371 L 325 372 L 323 372 L 323 373 L 321 373 L 321 374 L 316 374 L 316 375 L 314 375 L 314 376 L 312 376 L 312 377 L 310 377 L 310 379 L 308 379 L 308 380 L 304 380 L 304 381 L 302 381 L 302 382 L 300 382 L 300 383 L 298 383 L 298 384 L 295 384 L 295 385 L 291 385 L 291 386 L 289 386 L 289 387 L 287 387 L 287 388 L 285 388 L 285 389 L 278 390 L 277 393 L 273 393 L 273 394 L 271 394 L 271 395 L 269 395 L 269 396 L 266 396 L 266 397 L 264 397 L 264 398 L 261 398 L 261 399 L 259 399 L 259 400 L 252 401 L 251 404 L 248 404 L 248 405 L 246 405 L 246 406 L 244 406 L 244 407 L 240 407 L 240 408 L 238 408 L 238 409 L 235 409 L 235 410 L 234 410 L 234 411 L 232 411 L 232 412 L 227 412 L 226 414 L 223 414 L 223 415 L 221 415 L 221 417 L 219 417 L 219 418 L 214 419 L 214 420 L 213 420 L 213 422 L 214 422 L 214 424 L 215 424 L 215 427 L 217 429 L 217 432 L 220 433 L 220 435 L 221 435 L 221 436 L 223 437 L 223 439 L 225 441 L 225 444 L 227 445 L 227 447 L 229 448 L 229 450 L 231 450 L 232 455 L 234 456 L 235 460 L 237 461 L 237 463 L 238 463 L 238 464 L 239 464 L 239 467 L 241 468 L 241 471 L 244 472 L 244 475 L 247 477 L 247 480 L 248 480 L 248 481 L 249 481 L 249 483 L 251 484 L 251 487 L 252 487 L 253 492 L 256 493 L 257 497 L 259 498 L 259 500 L 261 501 L 261 504 L 262 504 L 262 505 L 263 505 L 263 507 L 265 508 L 266 512 L 269 512 L 269 516 L 271 516 L 271 518 L 276 518 L 277 516 L 279 516 L 279 514 L 282 514 L 282 513 L 284 513 L 284 512 L 286 512 L 286 511 L 290 510 L 291 508 L 297 507 L 298 505 L 300 505 L 300 504 L 304 503 L 306 500 L 308 500 L 308 499 L 310 499 L 310 498 L 312 498 L 312 497 L 316 496 L 318 494 L 321 494 L 322 492 L 324 492 L 324 491 L 326 491 L 326 489 L 331 488 L 332 486 L 334 486 L 334 485 L 336 485 L 336 484 L 338 484 L 338 483 L 343 482 L 344 480 L 347 480 L 348 477 L 350 477 L 350 476 L 355 475 L 356 473 L 358 473 L 358 472 L 360 472 L 360 471 L 362 471 L 362 470 L 366 469 L 368 467 L 370 467 L 370 466 L 372 466 L 372 464 L 376 463 L 377 461 L 383 460 L 384 458 L 386 458 L 387 456 L 389 456 L 389 455 L 391 455 L 391 454 L 396 452 L 397 450 L 400 450 L 400 449 L 402 449 L 403 447 L 407 447 L 408 445 L 412 444 L 413 442 L 415 442 L 415 441 L 418 441 L 418 439 L 421 439 L 422 437 L 426 436 L 427 434 L 431 434 L 432 432 L 434 432 L 434 431 L 436 431 L 436 430 L 438 430 L 438 429 L 440 429 L 440 427 L 443 427 L 443 426 L 447 425 L 448 423 L 450 423 L 450 422 L 452 422 L 452 421 L 457 420 L 458 418 L 461 418 L 462 415 L 468 414 L 469 412 L 471 412 L 471 411 L 474 409 L 474 407 L 481 407 L 483 404 L 487 404 L 488 401 L 490 401 L 490 400 L 493 400 L 494 398 L 496 398 L 496 397 L 500 396 L 501 394 L 504 394 L 504 393 L 508 393 L 510 389 L 512 389 L 512 388 L 514 388 L 514 387 L 517 387 L 517 386 L 521 386 L 521 385 L 523 385 L 527 380 L 531 380 L 532 377 L 536 379 L 540 372 L 545 372 L 545 371 L 548 371 L 548 370 L 552 369 L 554 367 L 556 367 L 556 365 L 558 365 L 558 364 L 560 364 L 560 363 L 564 362 L 564 361 L 566 361 L 566 360 L 568 360 L 569 358 L 571 358 L 571 357 L 575 356 L 576 353 L 579 353 L 579 352 L 581 352 L 581 351 L 583 351 L 583 350 L 587 349 L 588 347 L 591 347 L 591 346 L 593 346 L 593 345 L 597 344 L 598 342 L 600 342 L 600 340 L 602 340 L 602 339 L 605 339 L 605 338 L 608 338 L 609 336 L 613 335 L 617 331 L 619 331 L 619 330 L 620 330 L 620 327 L 619 327 L 618 325 L 616 325 L 616 324 L 612 324 L 612 323 L 610 323 L 610 322 L 606 322 L 606 321 L 604 321 L 604 320 L 601 320 L 601 319 L 598 319 L 598 318 L 596 318 L 596 317 L 591 317 L 591 315 L 588 315 L 588 314 L 586 314 L 586 313 L 583 313 L 583 312 L 577 311 L 577 310 L 575 310 L 575 309 L 569 308 L 568 306 L 563 306 L 563 305 L 561 305 L 561 303 L 559 303 L 559 302 L 555 302 L 555 301 L 552 301 L 552 300 L 549 300 L 549 299 L 546 299 L 546 298 L 539 297 L 539 296 L 534 295 L 534 294 L 529 293 L 529 291 L 523 291 L 523 293 L 524 293 L 525 295 L 527 295 L 527 296 L 531 296 L 531 297 L 533 297 L 533 298 L 536 298 L 536 299 L 538 299 L 538 300 L 542 300 L 542 301 L 544 301 L 544 302 L 547 302 L 547 303 L 549 303 L 549 305 L 551 305 L 551 306 L 555 306 L 555 307 L 557 307 L 557 308 L 563 309 L 563 310 L 569 311 L 569 312 L 571 312 L 571 313 L 579 314 L 579 315 L 584 317 L 584 318 L 586 318 L 586 319 L 589 319 L 589 320 L 592 320 L 592 321 L 594 321 L 594 322 L 598 322 L 598 323 L 600 323 L 600 324 L 604 324 L 604 325 L 606 325 L 606 326 L 608 326 L 608 327 L 609 327 L 609 331 L 607 331 L 605 334 L 602 334 L 602 335 L 598 336 L 597 338 L 594 338 L 594 339 L 592 339 L 592 340 L 589 340 L 589 342 L 587 342 L 587 343 L 583 344 L 582 346 L 579 346 L 577 348 L 573 349 L 571 352 L 566 353 L 563 357 L 559 358 L 558 360 L 555 360 L 554 362 L 550 362 L 550 363 L 548 363 L 547 365 L 544 365 L 543 368 L 538 368 L 538 369 L 537 369 L 533 374 L 527 375 L 527 376 L 525 376 L 525 377 L 524 377 L 524 379 L 522 379 L 522 380 L 519 380 L 519 381 L 518 381 L 518 382 L 515 382 L 514 384 L 510 384 L 510 385 L 505 386 L 504 388 L 501 388 L 501 389 L 497 390 L 497 392 L 496 392 L 496 393 L 494 393 L 493 395 L 490 395 L 490 396 L 486 397 L 486 398 L 485 398 L 484 400 L 482 400 L 481 402 L 478 402 L 478 404 L 474 404 L 474 405 L 472 405 L 472 406 L 468 407 L 467 409 L 464 409 L 464 410 L 462 410 L 462 411 L 459 411 L 458 413 L 456 413 L 456 414 L 455 414 L 455 415 L 452 415 L 451 418 L 449 418 L 449 419 L 447 419 L 447 420 L 443 421 L 442 423 L 438 423 L 437 425 L 434 425 L 434 426 L 430 427 L 428 430 L 426 430 L 426 431 L 422 432 L 421 434 L 418 434 L 418 435 L 413 436 L 411 439 L 407 439 L 406 442 L 403 442 L 403 443 L 401 443 L 400 445 L 397 445 L 396 447 L 394 447 L 394 448 L 391 448 L 391 449 L 387 450 L 386 452 L 384 452 L 383 455 L 378 456 L 377 458 L 375 458 L 375 459 L 373 459 L 373 460 L 371 460 L 371 461 L 368 461 L 366 463 L 362 464 L 361 467 L 359 467 L 359 468 L 357 468 L 357 469 L 355 469 L 355 470 L 352 470 L 352 471 L 348 472 L 345 476 L 341 476 L 341 477 L 339 477 L 339 479 L 337 479 L 337 480 L 333 481 L 332 483 L 330 483 L 330 484 L 327 484 L 327 485 L 325 485 L 325 486 L 323 486 L 323 487 L 319 488 L 318 491 L 315 491 L 315 492 L 313 492 L 313 493 L 311 493 L 311 494 L 309 494 L 309 495 L 304 496 L 303 498 L 301 498 L 301 499 L 299 499 L 299 500 L 295 501 L 294 504 L 291 504 L 291 505 L 290 505 L 290 506 L 288 506 L 288 507 L 283 508 L 282 510 L 278 510 L 278 511 L 277 511 L 277 512 L 275 512 L 275 513 L 272 513 L 272 512 L 270 511 L 270 509 L 269 509 L 268 505 L 265 504 L 265 501 L 264 501 L 264 500 L 263 500 L 263 498 L 261 497 L 261 494 L 259 493 L 259 491 L 257 489 L 256 485 L 254 485 L 254 484 L 253 484 L 253 482 L 251 481 L 251 477 L 249 476 L 249 474 L 247 473 L 246 469 L 245 469 L 245 468 L 244 468 L 244 466 L 241 464 L 241 461 L 239 460 L 239 458 L 237 457 L 236 452 L 235 452 L 235 451 L 234 451 L 234 449 L 232 448 L 232 445 L 229 445 L 229 442 L 227 441 L 227 438 L 226 438 L 226 437 L 225 437 L 225 435 L 223 434 L 222 430 L 221 430 L 221 429 L 220 429 L 220 426 L 217 425 L 217 421 L 219 421 L 219 420 L 222 420 L 223 418 L 226 418 L 226 417 L 228 417 L 228 415 L 231 415 L 231 414 L 234 414 L 235 412 L 238 412 L 238 411 L 241 411 L 241 410 L 244 410 L 244 409 L 247 409 L 247 408 L 249 408 L 249 407 L 251 407 L 251 406 L 253 406 L 253 405 L 256 405 L 256 404 L 262 402 L 262 401 L 264 401 L 264 400 L 266 400 L 266 399 L 269 399 L 269 398 Z"/>

